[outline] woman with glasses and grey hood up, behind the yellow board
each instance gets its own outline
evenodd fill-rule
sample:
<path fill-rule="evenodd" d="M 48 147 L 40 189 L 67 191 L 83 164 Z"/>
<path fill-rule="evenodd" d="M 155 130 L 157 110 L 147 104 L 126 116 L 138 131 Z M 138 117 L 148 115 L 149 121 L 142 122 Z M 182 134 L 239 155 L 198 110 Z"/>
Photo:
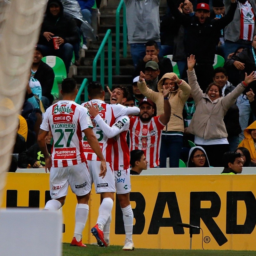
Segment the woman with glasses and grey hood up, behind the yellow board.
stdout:
<path fill-rule="evenodd" d="M 210 167 L 208 157 L 204 148 L 190 148 L 187 167 Z"/>

